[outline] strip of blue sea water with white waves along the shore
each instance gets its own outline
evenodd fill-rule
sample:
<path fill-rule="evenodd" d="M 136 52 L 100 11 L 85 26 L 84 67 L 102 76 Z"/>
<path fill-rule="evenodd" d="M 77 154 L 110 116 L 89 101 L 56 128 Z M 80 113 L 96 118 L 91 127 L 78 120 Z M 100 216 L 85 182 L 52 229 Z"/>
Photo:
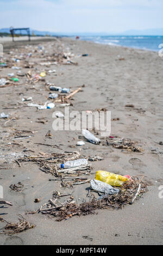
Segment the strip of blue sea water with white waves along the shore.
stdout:
<path fill-rule="evenodd" d="M 81 40 L 93 41 L 98 44 L 126 46 L 143 50 L 159 51 L 163 44 L 163 36 L 80 36 Z"/>

